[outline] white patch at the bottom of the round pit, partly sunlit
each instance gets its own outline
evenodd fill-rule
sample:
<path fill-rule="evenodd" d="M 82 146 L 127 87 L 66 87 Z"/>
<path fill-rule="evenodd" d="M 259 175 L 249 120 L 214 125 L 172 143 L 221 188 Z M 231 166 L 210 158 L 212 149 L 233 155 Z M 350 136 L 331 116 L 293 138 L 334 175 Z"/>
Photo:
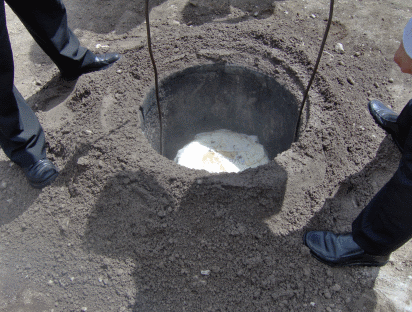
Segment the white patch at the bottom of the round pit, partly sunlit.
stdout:
<path fill-rule="evenodd" d="M 176 163 L 211 173 L 240 172 L 269 162 L 257 136 L 216 130 L 199 133 L 177 152 Z"/>

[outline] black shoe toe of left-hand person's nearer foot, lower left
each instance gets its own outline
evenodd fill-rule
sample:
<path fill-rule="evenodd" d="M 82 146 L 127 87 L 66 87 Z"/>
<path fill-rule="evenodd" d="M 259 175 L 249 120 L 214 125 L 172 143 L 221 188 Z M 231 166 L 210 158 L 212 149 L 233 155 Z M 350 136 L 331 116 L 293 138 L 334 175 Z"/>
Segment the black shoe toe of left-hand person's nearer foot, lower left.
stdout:
<path fill-rule="evenodd" d="M 40 159 L 23 170 L 30 185 L 37 189 L 50 185 L 59 175 L 56 166 L 47 158 Z"/>

